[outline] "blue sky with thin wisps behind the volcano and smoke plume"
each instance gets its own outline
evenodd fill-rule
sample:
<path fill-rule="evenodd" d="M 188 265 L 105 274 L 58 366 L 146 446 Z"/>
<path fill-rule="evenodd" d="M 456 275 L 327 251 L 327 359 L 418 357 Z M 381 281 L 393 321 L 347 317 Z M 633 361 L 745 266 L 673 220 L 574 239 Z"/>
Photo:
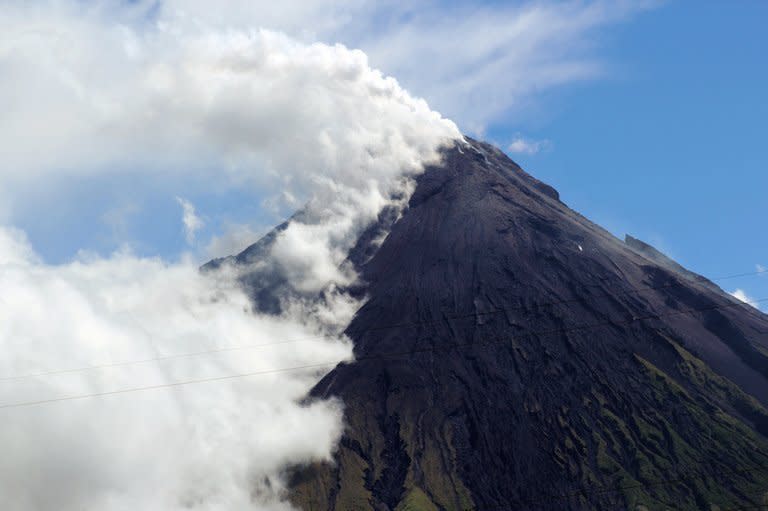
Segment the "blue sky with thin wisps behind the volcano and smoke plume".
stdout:
<path fill-rule="evenodd" d="M 235 0 L 215 13 L 196 0 L 131 4 L 154 5 L 138 24 L 183 8 L 212 24 L 360 47 L 616 235 L 631 233 L 710 277 L 768 266 L 765 2 L 361 1 L 357 10 L 318 2 L 307 12 L 294 3 Z M 540 150 L 515 151 L 516 139 Z M 203 260 L 223 255 L 205 250 L 213 236 L 236 232 L 242 245 L 288 211 L 265 206 L 269 193 L 258 187 L 211 186 L 196 173 L 59 177 L 13 195 L 12 223 L 53 263 L 121 246 Z M 205 222 L 193 246 L 176 197 Z M 723 285 L 768 297 L 768 276 Z"/>

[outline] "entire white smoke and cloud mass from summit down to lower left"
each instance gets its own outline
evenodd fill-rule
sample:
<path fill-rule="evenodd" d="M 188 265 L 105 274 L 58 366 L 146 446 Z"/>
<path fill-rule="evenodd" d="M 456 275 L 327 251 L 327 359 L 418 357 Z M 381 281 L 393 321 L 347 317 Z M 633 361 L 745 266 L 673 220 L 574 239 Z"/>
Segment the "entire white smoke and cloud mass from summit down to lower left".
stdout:
<path fill-rule="evenodd" d="M 0 189 L 128 175 L 306 204 L 257 263 L 294 294 L 260 315 L 228 268 L 129 252 L 49 265 L 0 227 L 0 494 L 14 511 L 287 509 L 282 470 L 327 459 L 343 427 L 339 403 L 298 404 L 322 371 L 175 384 L 349 358 L 346 252 L 459 132 L 360 51 L 108 5 L 4 7 Z M 202 224 L 179 203 L 191 242 Z M 216 353 L 176 356 L 200 351 Z"/>

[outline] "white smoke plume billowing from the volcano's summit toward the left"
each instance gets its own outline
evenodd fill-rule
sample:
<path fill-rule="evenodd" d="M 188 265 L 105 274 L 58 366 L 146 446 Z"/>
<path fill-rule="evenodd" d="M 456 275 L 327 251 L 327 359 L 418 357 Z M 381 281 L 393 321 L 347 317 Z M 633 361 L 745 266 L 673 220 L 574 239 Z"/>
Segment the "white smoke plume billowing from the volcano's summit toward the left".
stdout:
<path fill-rule="evenodd" d="M 311 200 L 306 225 L 276 247 L 276 269 L 301 291 L 348 282 L 331 268 L 357 233 L 460 137 L 343 46 L 264 30 L 129 29 L 66 10 L 2 21 L 14 80 L 0 82 L 13 98 L 0 120 L 0 185 L 143 171 Z M 295 243 L 294 229 L 312 241 Z"/>

